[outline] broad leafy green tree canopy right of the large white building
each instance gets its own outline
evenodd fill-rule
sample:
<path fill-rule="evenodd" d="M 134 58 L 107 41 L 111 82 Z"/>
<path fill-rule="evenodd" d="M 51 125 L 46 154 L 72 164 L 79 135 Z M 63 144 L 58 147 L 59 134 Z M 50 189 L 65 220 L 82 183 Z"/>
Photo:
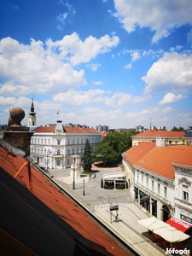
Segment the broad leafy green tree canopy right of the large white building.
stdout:
<path fill-rule="evenodd" d="M 139 131 L 131 131 L 129 133 L 126 131 L 114 131 L 113 133 L 108 133 L 108 135 L 103 138 L 102 144 L 93 152 L 93 160 L 107 163 L 121 160 L 121 154 L 131 148 L 131 137 L 137 133 L 139 133 Z"/>

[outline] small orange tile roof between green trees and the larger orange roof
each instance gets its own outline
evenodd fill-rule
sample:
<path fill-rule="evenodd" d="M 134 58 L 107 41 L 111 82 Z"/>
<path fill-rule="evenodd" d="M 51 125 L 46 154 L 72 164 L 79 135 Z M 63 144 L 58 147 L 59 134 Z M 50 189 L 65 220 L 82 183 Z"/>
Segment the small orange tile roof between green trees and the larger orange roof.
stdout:
<path fill-rule="evenodd" d="M 125 152 L 125 160 L 127 160 L 131 166 L 134 165 L 137 160 L 140 160 L 145 154 L 155 147 L 155 143 L 142 142 L 139 145 L 135 145 Z"/>

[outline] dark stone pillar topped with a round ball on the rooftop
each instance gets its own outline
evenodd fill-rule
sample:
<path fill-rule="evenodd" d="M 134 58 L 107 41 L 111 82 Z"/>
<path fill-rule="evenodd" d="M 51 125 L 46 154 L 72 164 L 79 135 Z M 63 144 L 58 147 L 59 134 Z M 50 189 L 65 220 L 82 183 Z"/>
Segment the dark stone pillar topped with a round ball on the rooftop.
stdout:
<path fill-rule="evenodd" d="M 26 155 L 30 156 L 30 142 L 34 132 L 29 131 L 28 127 L 20 125 L 20 122 L 25 117 L 25 112 L 22 108 L 12 108 L 6 131 L 4 131 L 3 139 L 15 148 L 23 150 Z"/>

